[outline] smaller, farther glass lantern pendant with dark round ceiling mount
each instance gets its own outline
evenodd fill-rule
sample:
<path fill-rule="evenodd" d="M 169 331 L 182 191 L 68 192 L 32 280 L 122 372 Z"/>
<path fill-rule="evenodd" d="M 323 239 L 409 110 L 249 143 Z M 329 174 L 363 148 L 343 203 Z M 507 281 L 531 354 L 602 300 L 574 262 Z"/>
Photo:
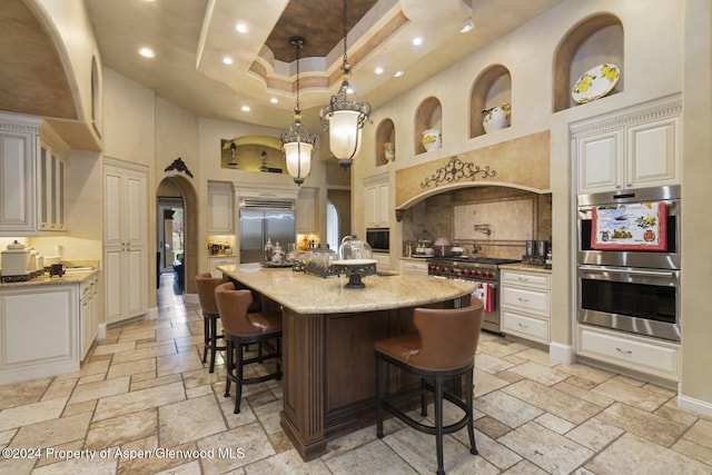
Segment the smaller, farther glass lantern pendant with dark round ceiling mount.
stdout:
<path fill-rule="evenodd" d="M 301 37 L 289 38 L 289 44 L 297 50 L 297 105 L 294 108 L 294 122 L 289 130 L 279 135 L 285 150 L 287 172 L 294 182 L 301 186 L 312 170 L 312 151 L 316 142 L 316 135 L 308 133 L 301 126 L 301 108 L 299 107 L 299 50 L 305 41 Z"/>

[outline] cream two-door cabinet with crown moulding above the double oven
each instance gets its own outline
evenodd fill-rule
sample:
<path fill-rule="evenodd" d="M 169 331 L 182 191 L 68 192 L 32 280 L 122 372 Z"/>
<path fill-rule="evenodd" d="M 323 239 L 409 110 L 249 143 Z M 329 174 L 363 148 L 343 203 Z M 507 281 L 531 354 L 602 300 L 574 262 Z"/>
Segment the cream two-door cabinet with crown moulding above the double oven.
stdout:
<path fill-rule="evenodd" d="M 680 184 L 680 115 L 674 98 L 572 125 L 577 192 Z"/>

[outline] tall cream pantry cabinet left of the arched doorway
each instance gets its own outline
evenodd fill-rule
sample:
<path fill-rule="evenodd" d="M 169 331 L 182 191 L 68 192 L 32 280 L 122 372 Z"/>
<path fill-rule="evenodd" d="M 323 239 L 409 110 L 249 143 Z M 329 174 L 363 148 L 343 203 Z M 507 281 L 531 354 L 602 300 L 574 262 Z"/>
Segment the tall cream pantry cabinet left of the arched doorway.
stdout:
<path fill-rule="evenodd" d="M 108 324 L 148 309 L 147 182 L 146 167 L 106 159 L 103 270 Z"/>

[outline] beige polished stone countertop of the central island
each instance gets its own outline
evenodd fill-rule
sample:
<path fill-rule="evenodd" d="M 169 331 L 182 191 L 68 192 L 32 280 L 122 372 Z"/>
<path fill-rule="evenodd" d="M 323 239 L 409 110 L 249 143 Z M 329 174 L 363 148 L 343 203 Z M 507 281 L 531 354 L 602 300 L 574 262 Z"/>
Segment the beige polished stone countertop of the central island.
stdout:
<path fill-rule="evenodd" d="M 317 277 L 291 268 L 260 265 L 219 266 L 218 270 L 298 314 L 344 314 L 417 307 L 452 300 L 475 290 L 475 284 L 413 274 L 368 276 L 366 288 L 345 288 L 346 276 Z"/>

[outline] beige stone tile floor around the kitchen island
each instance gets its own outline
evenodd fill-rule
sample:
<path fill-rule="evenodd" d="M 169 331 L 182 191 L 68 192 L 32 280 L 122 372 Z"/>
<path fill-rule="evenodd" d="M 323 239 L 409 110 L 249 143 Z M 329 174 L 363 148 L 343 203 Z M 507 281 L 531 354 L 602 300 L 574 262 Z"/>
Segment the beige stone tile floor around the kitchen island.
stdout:
<path fill-rule="evenodd" d="M 329 444 L 304 463 L 279 426 L 278 382 L 222 396 L 225 369 L 200 360 L 199 306 L 164 276 L 159 318 L 112 328 L 77 374 L 0 386 L 0 474 L 433 473 L 435 442 L 397 422 Z M 445 443 L 448 474 L 711 474 L 712 420 L 675 393 L 483 334 L 475 438 Z M 234 394 L 234 393 L 233 393 Z M 158 447 L 159 451 L 149 452 Z M 39 456 L 39 457 L 38 457 Z"/>

